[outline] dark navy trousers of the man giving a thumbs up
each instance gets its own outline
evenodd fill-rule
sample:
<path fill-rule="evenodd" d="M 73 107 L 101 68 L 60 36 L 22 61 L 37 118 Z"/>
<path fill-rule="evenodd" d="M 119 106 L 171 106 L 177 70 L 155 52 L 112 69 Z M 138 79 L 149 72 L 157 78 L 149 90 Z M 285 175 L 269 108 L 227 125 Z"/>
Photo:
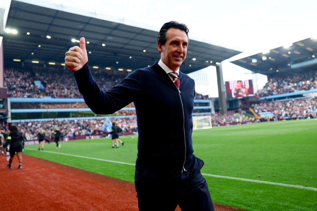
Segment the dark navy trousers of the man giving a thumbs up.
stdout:
<path fill-rule="evenodd" d="M 145 169 L 137 187 L 139 210 L 174 211 L 179 205 L 182 211 L 214 211 L 206 180 L 200 173 L 203 161 L 196 159 L 187 171 L 170 176 L 159 173 L 164 170 Z"/>

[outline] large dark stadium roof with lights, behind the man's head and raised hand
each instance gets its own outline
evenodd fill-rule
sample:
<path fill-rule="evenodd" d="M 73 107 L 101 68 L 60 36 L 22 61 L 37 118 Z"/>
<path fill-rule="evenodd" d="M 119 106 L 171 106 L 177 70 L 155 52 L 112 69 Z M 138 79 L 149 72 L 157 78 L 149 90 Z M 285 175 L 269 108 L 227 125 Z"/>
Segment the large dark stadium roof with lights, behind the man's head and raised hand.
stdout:
<path fill-rule="evenodd" d="M 57 8 L 56 5 L 53 6 Z M 61 5 L 58 7 L 63 8 Z M 89 41 L 86 44 L 87 51 L 91 52 L 88 54 L 89 64 L 100 68 L 134 70 L 159 60 L 157 31 L 123 24 L 123 19 L 115 22 L 97 18 L 97 14 L 92 12 L 80 13 L 78 15 L 62 9 L 12 1 L 6 28 L 16 29 L 18 33 L 2 35 L 5 61 L 37 60 L 40 64 L 54 62 L 60 65 L 64 62 L 65 52 L 70 47 L 79 45 L 71 40 L 79 40 L 80 37 Z M 48 39 L 47 36 L 51 38 Z M 241 52 L 190 40 L 187 59 L 181 70 L 184 73 L 196 71 L 216 65 L 216 62 L 238 53 Z"/>

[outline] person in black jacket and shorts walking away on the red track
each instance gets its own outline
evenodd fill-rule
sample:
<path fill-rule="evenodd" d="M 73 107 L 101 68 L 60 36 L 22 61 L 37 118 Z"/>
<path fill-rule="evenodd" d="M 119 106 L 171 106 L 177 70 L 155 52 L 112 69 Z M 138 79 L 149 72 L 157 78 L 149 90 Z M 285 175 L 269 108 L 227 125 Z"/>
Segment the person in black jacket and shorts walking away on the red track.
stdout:
<path fill-rule="evenodd" d="M 7 164 L 9 169 L 11 168 L 12 160 L 14 158 L 15 153 L 19 159 L 18 169 L 22 169 L 22 140 L 22 133 L 18 132 L 18 128 L 16 126 L 11 126 L 10 133 L 6 141 L 6 146 L 10 144 L 10 159 L 9 164 Z"/>

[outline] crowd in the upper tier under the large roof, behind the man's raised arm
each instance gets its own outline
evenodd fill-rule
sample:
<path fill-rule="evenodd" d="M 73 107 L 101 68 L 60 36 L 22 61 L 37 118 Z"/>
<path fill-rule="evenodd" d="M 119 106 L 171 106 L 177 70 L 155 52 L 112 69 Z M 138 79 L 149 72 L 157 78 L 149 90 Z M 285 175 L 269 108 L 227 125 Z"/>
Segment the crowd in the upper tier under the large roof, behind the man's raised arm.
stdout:
<path fill-rule="evenodd" d="M 108 90 L 118 84 L 127 74 L 121 71 L 105 72 L 93 71 L 93 77 L 102 90 Z M 82 98 L 78 91 L 72 73 L 68 70 L 57 68 L 44 68 L 34 66 L 28 69 L 7 68 L 4 71 L 4 86 L 8 87 L 8 97 L 44 97 L 52 98 Z M 44 90 L 40 90 L 34 81 L 41 81 Z M 196 93 L 195 99 L 208 99 L 208 96 Z M 43 105 L 44 106 L 44 105 Z M 83 104 L 46 104 L 46 109 L 51 108 L 86 108 Z M 56 107 L 54 107 L 56 106 Z M 65 106 L 65 107 L 62 107 Z M 85 106 L 85 107 L 77 107 Z"/>

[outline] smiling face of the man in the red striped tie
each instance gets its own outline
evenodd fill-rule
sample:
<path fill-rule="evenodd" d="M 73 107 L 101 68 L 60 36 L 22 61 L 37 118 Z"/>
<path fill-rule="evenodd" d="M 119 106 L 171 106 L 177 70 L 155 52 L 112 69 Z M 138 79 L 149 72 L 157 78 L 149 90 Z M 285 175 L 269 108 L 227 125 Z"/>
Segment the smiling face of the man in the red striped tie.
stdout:
<path fill-rule="evenodd" d="M 182 65 L 187 52 L 188 38 L 183 30 L 169 28 L 164 45 L 157 43 L 162 62 L 172 71 Z"/>

